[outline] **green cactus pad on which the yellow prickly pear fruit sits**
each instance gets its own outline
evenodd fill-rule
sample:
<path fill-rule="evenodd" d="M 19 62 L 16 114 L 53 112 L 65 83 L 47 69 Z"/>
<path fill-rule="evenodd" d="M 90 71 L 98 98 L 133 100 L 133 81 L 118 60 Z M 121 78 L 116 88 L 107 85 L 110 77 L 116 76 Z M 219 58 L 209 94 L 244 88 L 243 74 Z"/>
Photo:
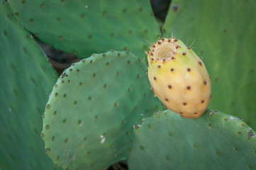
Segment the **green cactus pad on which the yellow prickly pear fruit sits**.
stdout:
<path fill-rule="evenodd" d="M 168 110 L 135 129 L 131 170 L 256 169 L 256 133 L 233 115 L 206 111 L 186 119 Z"/>

